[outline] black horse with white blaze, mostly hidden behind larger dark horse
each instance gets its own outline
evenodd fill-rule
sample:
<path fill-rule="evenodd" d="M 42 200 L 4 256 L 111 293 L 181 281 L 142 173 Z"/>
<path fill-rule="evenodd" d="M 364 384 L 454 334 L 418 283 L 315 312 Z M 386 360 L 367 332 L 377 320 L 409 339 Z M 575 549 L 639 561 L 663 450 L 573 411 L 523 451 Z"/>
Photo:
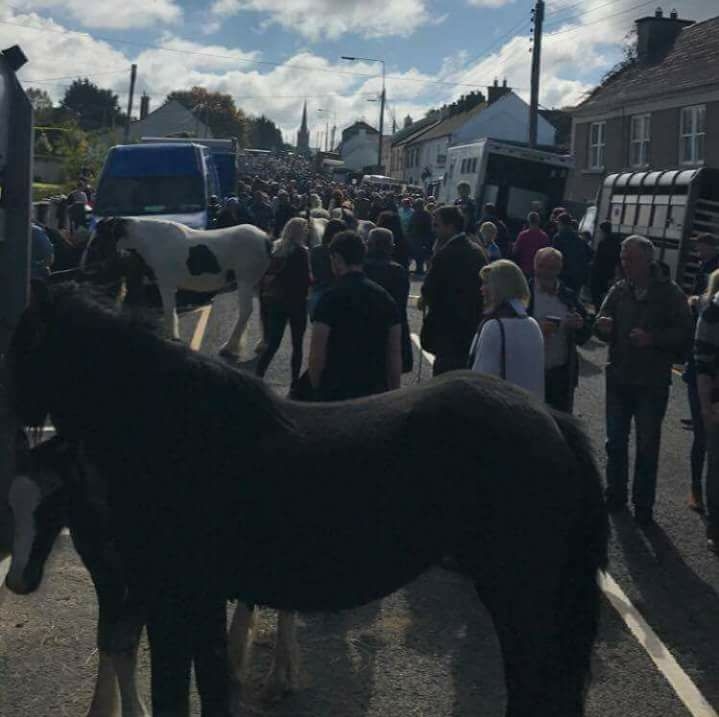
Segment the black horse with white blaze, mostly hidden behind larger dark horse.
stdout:
<path fill-rule="evenodd" d="M 6 583 L 19 595 L 36 590 L 45 562 L 63 527 L 92 577 L 99 608 L 99 665 L 88 717 L 147 717 L 135 679 L 144 627 L 141 605 L 127 591 L 121 558 L 109 533 L 105 486 L 83 466 L 77 443 L 51 438 L 18 452 L 10 486 L 13 556 Z M 128 599 L 130 598 L 130 599 Z"/>

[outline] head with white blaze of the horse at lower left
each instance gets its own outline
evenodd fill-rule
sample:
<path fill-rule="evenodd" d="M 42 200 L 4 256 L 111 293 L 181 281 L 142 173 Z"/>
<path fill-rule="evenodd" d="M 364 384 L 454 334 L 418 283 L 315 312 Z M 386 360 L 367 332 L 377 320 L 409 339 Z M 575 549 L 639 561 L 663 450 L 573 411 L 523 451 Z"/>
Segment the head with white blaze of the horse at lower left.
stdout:
<path fill-rule="evenodd" d="M 40 586 L 52 546 L 67 524 L 70 495 L 69 444 L 53 438 L 23 453 L 8 494 L 13 549 L 5 584 L 17 595 Z"/>

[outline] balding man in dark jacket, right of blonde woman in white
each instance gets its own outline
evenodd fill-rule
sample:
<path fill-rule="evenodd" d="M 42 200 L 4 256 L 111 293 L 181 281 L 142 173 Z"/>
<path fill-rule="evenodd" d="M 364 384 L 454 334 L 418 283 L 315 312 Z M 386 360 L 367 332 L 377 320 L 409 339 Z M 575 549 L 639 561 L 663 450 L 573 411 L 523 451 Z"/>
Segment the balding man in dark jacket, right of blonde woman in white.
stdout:
<path fill-rule="evenodd" d="M 559 280 L 561 271 L 562 255 L 556 249 L 545 247 L 535 254 L 528 313 L 544 334 L 545 400 L 572 413 L 579 383 L 577 346 L 589 340 L 592 325 L 579 297 Z"/>

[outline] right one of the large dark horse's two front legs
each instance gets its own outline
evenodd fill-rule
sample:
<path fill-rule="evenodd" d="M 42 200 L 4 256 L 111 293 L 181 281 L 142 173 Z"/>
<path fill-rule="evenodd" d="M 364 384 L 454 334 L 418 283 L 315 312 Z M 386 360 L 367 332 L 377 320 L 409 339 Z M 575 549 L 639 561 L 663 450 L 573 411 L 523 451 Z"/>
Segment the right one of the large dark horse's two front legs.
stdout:
<path fill-rule="evenodd" d="M 230 717 L 226 601 L 201 599 L 195 614 L 192 654 L 202 717 Z"/>

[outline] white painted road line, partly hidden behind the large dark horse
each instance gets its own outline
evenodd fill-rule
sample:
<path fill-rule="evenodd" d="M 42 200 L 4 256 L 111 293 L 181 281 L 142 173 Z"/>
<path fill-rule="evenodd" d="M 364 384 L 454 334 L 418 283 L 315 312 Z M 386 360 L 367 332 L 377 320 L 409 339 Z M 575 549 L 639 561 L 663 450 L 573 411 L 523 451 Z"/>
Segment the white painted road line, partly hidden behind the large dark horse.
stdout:
<path fill-rule="evenodd" d="M 430 366 L 434 364 L 434 356 L 422 349 L 417 334 L 412 334 L 412 342 L 422 352 L 427 363 Z M 622 618 L 629 632 L 632 633 L 647 655 L 649 655 L 656 668 L 669 683 L 677 697 L 684 703 L 692 717 L 719 717 L 714 708 L 699 692 L 689 675 L 684 672 L 681 665 L 674 659 L 666 645 L 659 639 L 656 632 L 632 605 L 616 580 L 609 573 L 600 573 L 599 585 L 612 607 L 619 613 L 619 617 Z"/>

